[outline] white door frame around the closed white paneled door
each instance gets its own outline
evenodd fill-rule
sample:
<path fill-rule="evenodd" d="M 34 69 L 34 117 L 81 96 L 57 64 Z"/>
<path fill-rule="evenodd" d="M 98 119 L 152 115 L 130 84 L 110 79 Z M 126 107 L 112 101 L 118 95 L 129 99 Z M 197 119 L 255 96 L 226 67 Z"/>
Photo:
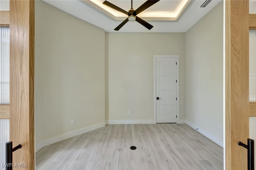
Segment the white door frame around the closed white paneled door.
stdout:
<path fill-rule="evenodd" d="M 177 120 L 176 123 L 180 123 L 180 56 L 179 55 L 154 55 L 154 80 L 153 80 L 153 100 L 154 100 L 154 122 L 156 123 L 156 58 L 176 58 L 177 66 L 176 66 L 176 78 L 177 78 L 177 86 L 176 86 L 176 95 L 177 95 L 177 103 L 176 103 L 176 115 Z"/>

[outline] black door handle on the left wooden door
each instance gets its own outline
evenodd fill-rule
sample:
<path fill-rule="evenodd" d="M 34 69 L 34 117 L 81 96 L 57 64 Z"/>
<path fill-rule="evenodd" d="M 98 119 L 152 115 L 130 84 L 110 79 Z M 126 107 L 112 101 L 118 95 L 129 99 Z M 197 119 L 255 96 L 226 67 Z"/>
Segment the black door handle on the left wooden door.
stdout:
<path fill-rule="evenodd" d="M 12 141 L 6 142 L 6 170 L 12 170 L 12 152 L 20 149 L 22 146 L 18 144 L 16 147 L 12 148 Z"/>

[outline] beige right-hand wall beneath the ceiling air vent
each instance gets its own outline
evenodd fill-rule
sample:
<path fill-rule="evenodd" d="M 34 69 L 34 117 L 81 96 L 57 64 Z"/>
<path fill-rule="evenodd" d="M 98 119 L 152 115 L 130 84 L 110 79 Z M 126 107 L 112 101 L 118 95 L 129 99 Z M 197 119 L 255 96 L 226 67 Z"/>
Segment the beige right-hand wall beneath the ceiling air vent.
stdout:
<path fill-rule="evenodd" d="M 186 121 L 223 141 L 223 2 L 186 32 Z"/>

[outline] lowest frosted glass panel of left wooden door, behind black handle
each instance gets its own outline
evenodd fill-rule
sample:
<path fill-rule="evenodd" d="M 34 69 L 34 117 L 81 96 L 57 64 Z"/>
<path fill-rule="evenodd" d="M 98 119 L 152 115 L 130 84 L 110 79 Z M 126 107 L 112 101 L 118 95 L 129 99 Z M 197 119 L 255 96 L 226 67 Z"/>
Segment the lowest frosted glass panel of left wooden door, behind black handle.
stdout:
<path fill-rule="evenodd" d="M 10 140 L 10 121 L 9 119 L 0 119 L 0 170 L 5 170 L 2 163 L 5 163 L 5 143 Z"/>

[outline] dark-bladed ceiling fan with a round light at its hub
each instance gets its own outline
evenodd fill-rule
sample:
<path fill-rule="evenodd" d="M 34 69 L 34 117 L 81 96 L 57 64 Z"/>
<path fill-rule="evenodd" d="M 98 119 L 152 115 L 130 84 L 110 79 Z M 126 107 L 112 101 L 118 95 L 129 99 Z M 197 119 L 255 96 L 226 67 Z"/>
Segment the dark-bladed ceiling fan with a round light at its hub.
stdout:
<path fill-rule="evenodd" d="M 131 8 L 128 12 L 123 10 L 122 8 L 119 8 L 118 6 L 115 6 L 114 4 L 112 4 L 112 3 L 110 3 L 110 2 L 108 2 L 106 0 L 103 2 L 103 4 L 106 5 L 106 6 L 109 6 L 110 8 L 113 8 L 115 10 L 118 10 L 119 12 L 122 12 L 122 13 L 128 15 L 128 18 L 126 18 L 126 20 L 124 20 L 120 25 L 118 25 L 114 30 L 118 31 L 128 21 L 135 21 L 135 20 L 138 23 L 142 24 L 144 27 L 146 27 L 146 28 L 148 28 L 150 30 L 151 28 L 153 28 L 153 26 L 151 24 L 149 24 L 148 22 L 142 20 L 141 18 L 139 18 L 136 15 L 139 14 L 140 12 L 146 10 L 148 7 L 154 5 L 158 1 L 160 1 L 160 0 L 147 0 L 138 9 L 134 10 L 133 8 Z"/>

